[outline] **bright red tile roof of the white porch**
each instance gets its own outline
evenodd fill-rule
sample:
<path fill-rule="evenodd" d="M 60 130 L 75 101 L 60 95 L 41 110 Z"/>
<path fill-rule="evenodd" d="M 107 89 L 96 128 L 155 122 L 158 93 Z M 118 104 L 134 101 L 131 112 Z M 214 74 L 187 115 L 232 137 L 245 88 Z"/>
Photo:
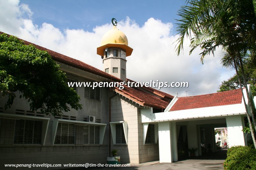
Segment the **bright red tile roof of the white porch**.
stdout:
<path fill-rule="evenodd" d="M 190 97 L 179 97 L 170 111 L 186 110 L 202 107 L 224 106 L 242 102 L 241 89 L 217 92 Z"/>

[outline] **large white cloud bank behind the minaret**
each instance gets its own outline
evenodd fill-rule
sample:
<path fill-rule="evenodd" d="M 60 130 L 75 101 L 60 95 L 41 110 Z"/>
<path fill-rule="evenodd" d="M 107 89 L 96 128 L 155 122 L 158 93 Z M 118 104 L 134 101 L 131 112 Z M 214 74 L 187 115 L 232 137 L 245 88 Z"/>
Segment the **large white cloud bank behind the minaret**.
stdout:
<path fill-rule="evenodd" d="M 19 1 L 0 0 L 0 31 L 16 35 L 21 39 L 81 60 L 102 69 L 102 60 L 96 54 L 101 37 L 112 29 L 111 24 L 96 26 L 93 32 L 83 29 L 60 30 L 48 23 L 37 26 L 31 20 L 33 12 Z M 107 21 L 106 21 L 107 22 Z M 219 52 L 200 63 L 199 51 L 188 55 L 189 42 L 184 43 L 184 54 L 177 56 L 175 43 L 178 36 L 171 35 L 172 23 L 149 18 L 143 26 L 127 17 L 118 22 L 133 48 L 127 57 L 127 78 L 135 81 L 159 80 L 163 82 L 189 82 L 188 88 L 162 88 L 164 92 L 188 96 L 216 92 L 223 79 L 233 71 L 222 68 Z"/>

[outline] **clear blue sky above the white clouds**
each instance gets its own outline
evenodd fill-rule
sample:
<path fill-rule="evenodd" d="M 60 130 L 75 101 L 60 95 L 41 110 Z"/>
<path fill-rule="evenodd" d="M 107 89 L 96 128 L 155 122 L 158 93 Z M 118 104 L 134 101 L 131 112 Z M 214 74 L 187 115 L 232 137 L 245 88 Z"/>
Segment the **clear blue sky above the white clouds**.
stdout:
<path fill-rule="evenodd" d="M 20 3 L 29 5 L 36 25 L 47 22 L 61 30 L 92 31 L 95 26 L 110 23 L 111 18 L 120 21 L 127 16 L 140 26 L 151 17 L 175 23 L 177 11 L 185 0 L 21 0 Z"/>

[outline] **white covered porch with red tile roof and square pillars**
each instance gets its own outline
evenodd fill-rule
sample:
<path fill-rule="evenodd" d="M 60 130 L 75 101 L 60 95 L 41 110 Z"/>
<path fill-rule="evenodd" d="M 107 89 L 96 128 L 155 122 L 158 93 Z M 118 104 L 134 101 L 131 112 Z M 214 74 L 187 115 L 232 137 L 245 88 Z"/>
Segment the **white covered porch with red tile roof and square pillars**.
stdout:
<path fill-rule="evenodd" d="M 247 145 L 242 131 L 245 117 L 240 89 L 183 98 L 175 96 L 162 113 L 141 109 L 143 124 L 158 125 L 160 163 L 178 161 L 181 151 L 190 156 L 188 148 L 198 148 L 195 156 L 216 152 L 214 128 L 227 127 L 229 147 Z"/>

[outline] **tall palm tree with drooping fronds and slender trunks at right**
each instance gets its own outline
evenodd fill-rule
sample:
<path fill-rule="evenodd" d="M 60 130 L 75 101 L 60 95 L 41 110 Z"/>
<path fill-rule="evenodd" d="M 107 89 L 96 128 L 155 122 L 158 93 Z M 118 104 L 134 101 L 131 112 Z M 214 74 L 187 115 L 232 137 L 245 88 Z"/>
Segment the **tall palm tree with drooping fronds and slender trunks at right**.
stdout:
<path fill-rule="evenodd" d="M 241 53 L 245 54 L 248 50 L 255 54 L 256 30 L 255 13 L 252 1 L 249 0 L 190 0 L 186 6 L 182 6 L 178 15 L 177 31 L 180 34 L 176 51 L 180 55 L 183 51 L 185 36 L 190 40 L 191 54 L 195 48 L 200 47 L 202 52 L 201 62 L 209 54 L 214 55 L 216 47 L 227 47 L 233 58 L 230 62 L 239 66 L 243 77 L 240 78 L 241 87 L 244 85 L 248 98 L 253 125 L 256 122 L 253 115 L 252 102 L 245 79 L 243 61 Z M 234 60 L 237 55 L 237 63 Z M 255 56 L 255 55 L 254 55 Z M 238 76 L 239 78 L 239 76 Z M 241 81 L 242 79 L 242 81 Z M 245 99 L 244 99 L 245 100 Z M 245 108 L 247 109 L 246 103 Z M 248 114 L 248 112 L 247 112 Z M 254 136 L 253 136 L 254 137 Z M 254 139 L 255 141 L 255 139 Z M 256 143 L 254 143 L 256 148 Z"/>

